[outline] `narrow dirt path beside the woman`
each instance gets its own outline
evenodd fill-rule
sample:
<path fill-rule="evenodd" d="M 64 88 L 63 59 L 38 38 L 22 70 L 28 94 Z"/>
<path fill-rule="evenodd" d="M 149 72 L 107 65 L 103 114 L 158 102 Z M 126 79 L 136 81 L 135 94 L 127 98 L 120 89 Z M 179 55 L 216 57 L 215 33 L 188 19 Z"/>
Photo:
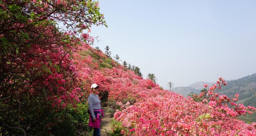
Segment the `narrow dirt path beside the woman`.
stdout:
<path fill-rule="evenodd" d="M 101 136 L 108 136 L 111 132 L 111 113 L 108 107 L 102 107 L 104 111 L 104 117 L 101 120 Z"/>

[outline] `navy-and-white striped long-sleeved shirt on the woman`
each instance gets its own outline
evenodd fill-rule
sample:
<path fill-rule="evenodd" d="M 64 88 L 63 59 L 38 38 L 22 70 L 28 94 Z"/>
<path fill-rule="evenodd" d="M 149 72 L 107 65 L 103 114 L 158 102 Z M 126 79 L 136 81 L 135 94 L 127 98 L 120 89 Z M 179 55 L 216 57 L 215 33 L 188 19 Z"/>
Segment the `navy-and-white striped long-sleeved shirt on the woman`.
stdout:
<path fill-rule="evenodd" d="M 94 94 L 90 94 L 88 97 L 88 105 L 89 105 L 89 110 L 91 113 L 91 116 L 93 116 L 93 119 L 96 118 L 94 115 L 93 110 L 99 110 L 101 109 L 101 105 L 100 105 L 100 99 L 98 95 L 94 95 Z M 101 113 L 99 113 L 99 116 L 101 116 Z"/>

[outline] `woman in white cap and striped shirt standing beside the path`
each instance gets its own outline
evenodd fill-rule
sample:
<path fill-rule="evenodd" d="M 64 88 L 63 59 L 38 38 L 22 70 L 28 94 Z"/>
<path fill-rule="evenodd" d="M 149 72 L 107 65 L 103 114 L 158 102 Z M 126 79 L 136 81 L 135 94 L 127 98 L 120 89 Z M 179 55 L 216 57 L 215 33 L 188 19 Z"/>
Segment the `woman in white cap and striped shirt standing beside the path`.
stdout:
<path fill-rule="evenodd" d="M 100 123 L 103 110 L 101 109 L 100 99 L 97 95 L 99 86 L 97 84 L 91 85 L 91 94 L 88 97 L 89 105 L 89 126 L 94 128 L 93 136 L 100 136 Z"/>

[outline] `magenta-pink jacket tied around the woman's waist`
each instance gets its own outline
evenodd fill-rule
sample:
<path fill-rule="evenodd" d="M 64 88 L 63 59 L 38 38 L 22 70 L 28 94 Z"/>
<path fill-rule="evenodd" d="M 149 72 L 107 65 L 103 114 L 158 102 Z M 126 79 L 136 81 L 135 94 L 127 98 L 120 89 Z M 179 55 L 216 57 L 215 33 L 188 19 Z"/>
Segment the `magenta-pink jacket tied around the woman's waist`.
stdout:
<path fill-rule="evenodd" d="M 93 122 L 92 116 L 91 114 L 89 115 L 89 126 L 93 127 L 93 128 L 100 128 L 100 124 L 101 124 L 101 117 L 99 117 L 99 113 L 101 113 L 101 116 L 104 117 L 104 113 L 103 113 L 103 109 L 99 109 L 99 110 L 93 110 L 95 117 L 96 117 L 96 121 Z"/>

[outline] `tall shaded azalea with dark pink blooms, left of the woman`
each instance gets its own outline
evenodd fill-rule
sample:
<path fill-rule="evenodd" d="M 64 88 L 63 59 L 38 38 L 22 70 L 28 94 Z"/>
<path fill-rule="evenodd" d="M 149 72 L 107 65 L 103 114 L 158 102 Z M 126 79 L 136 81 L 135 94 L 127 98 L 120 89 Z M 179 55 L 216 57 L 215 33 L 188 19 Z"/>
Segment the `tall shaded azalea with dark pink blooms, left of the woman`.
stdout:
<path fill-rule="evenodd" d="M 93 43 L 91 25 L 105 24 L 98 2 L 3 0 L 0 7 L 1 134 L 46 135 L 66 128 L 73 135 L 69 118 L 58 118 L 84 95 L 72 54 Z"/>

